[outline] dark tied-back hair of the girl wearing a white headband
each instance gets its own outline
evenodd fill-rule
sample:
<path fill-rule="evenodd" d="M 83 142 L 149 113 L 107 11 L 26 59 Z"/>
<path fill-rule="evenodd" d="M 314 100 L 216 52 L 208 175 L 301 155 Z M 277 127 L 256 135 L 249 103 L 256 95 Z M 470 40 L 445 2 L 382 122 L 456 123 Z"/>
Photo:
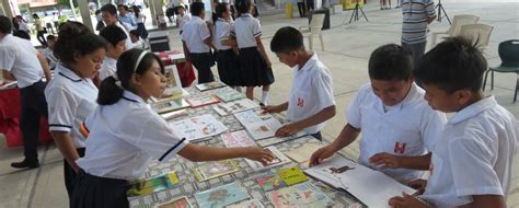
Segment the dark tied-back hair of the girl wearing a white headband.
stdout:
<path fill-rule="evenodd" d="M 137 70 L 134 71 L 135 65 L 137 65 L 137 59 L 139 58 L 141 53 L 147 53 L 142 60 L 138 63 Z M 159 62 L 161 72 L 164 73 L 164 63 L 160 60 L 160 58 L 152 54 L 145 51 L 142 49 L 132 48 L 123 53 L 117 59 L 117 78 L 120 80 L 120 86 L 116 85 L 116 80 L 114 77 L 105 78 L 100 85 L 100 92 L 97 95 L 97 103 L 100 105 L 112 105 L 117 103 L 120 97 L 123 97 L 124 90 L 131 91 L 129 86 L 129 82 L 131 80 L 131 76 L 134 73 L 137 74 L 145 74 L 151 68 L 153 60 Z"/>

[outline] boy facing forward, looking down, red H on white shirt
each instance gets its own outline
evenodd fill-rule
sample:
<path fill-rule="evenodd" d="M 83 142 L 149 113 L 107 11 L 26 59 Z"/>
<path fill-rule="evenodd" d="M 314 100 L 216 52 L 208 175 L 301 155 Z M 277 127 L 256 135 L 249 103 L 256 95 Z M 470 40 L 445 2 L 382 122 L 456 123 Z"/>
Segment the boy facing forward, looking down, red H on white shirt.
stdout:
<path fill-rule="evenodd" d="M 377 48 L 369 59 L 370 83 L 346 111 L 348 124 L 335 141 L 315 151 L 315 165 L 348 146 L 362 131 L 359 162 L 406 184 L 423 176 L 430 148 L 447 122 L 430 108 L 414 83 L 411 53 L 395 44 Z"/>

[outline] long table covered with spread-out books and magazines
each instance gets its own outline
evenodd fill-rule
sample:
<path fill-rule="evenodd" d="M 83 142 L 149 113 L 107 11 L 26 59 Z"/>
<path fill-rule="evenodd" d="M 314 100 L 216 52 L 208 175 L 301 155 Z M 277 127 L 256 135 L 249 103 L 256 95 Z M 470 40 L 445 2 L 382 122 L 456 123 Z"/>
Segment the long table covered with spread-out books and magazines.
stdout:
<path fill-rule="evenodd" d="M 261 109 L 256 104 L 228 86 L 208 91 L 188 88 L 183 94 L 182 100 L 152 105 L 162 113 L 175 135 L 195 138 L 191 142 L 200 146 L 264 147 L 277 157 L 275 163 L 278 164 L 263 166 L 246 159 L 191 162 L 178 155 L 168 162 L 154 161 L 145 174 L 146 183 L 130 185 L 130 207 L 185 207 L 186 204 L 189 204 L 187 207 L 367 206 L 348 192 L 328 186 L 334 182 L 326 185 L 303 173 L 309 155 L 326 143 L 303 132 L 288 138 L 272 137 L 272 130 L 284 122 L 280 115 L 258 114 Z M 250 104 L 255 108 L 246 109 L 253 107 Z M 182 109 L 164 113 L 164 108 Z M 261 118 L 254 120 L 255 115 Z M 256 128 L 253 122 L 258 120 L 265 123 Z M 193 128 L 196 125 L 201 125 L 198 130 Z M 200 134 L 209 137 L 200 139 Z"/>

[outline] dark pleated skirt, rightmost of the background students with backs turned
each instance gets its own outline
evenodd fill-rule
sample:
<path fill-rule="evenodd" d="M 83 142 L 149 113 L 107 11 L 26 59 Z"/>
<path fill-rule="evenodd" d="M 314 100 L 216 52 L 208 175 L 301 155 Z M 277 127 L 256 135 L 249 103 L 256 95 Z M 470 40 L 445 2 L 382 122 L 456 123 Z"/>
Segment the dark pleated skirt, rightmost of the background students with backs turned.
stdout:
<path fill-rule="evenodd" d="M 240 85 L 261 86 L 274 83 L 274 74 L 257 47 L 240 48 Z"/>

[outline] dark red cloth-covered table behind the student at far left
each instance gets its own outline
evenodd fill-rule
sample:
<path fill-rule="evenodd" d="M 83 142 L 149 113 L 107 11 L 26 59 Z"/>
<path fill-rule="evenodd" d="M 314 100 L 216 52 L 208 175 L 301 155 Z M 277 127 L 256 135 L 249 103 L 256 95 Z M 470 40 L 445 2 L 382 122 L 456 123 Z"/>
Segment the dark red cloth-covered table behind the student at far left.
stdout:
<path fill-rule="evenodd" d="M 23 146 L 20 129 L 21 94 L 19 88 L 0 90 L 0 132 L 5 135 L 9 148 Z M 53 137 L 48 131 L 47 118 L 39 122 L 39 141 L 49 141 Z"/>

